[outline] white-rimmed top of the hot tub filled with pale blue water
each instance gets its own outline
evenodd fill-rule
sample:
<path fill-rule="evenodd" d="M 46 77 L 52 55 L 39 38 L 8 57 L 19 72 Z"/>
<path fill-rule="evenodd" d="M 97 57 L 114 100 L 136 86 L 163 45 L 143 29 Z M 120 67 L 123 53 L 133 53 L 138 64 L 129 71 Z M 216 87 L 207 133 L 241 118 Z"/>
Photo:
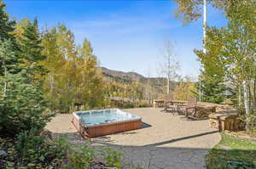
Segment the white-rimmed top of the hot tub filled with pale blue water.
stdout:
<path fill-rule="evenodd" d="M 111 122 L 140 119 L 137 115 L 131 115 L 119 109 L 77 111 L 74 113 L 79 115 L 80 120 L 88 127 Z"/>

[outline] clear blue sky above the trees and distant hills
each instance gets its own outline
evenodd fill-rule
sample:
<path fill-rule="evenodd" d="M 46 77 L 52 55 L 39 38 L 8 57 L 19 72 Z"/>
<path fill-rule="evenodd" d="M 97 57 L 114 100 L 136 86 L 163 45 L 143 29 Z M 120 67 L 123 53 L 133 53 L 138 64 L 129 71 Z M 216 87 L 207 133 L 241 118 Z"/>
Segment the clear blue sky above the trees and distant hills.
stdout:
<path fill-rule="evenodd" d="M 81 43 L 90 40 L 102 66 L 158 76 L 164 43 L 173 44 L 179 74 L 197 76 L 193 53 L 201 48 L 202 20 L 183 26 L 170 0 L 3 0 L 15 20 L 38 17 L 39 26 L 65 24 Z M 208 25 L 224 26 L 224 15 L 208 7 Z"/>

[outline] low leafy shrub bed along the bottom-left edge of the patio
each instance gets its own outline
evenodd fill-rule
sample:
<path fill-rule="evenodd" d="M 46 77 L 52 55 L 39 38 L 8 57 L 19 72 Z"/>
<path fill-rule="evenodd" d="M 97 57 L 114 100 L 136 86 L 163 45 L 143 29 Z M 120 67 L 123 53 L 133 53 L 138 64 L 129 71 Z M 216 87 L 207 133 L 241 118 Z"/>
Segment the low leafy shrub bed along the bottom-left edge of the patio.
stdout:
<path fill-rule="evenodd" d="M 121 168 L 118 151 L 102 147 L 95 149 L 90 144 L 68 144 L 63 136 L 45 142 L 34 132 L 20 132 L 17 138 L 0 138 L 0 150 L 7 152 L 7 155 L 0 155 L 0 168 Z"/>

